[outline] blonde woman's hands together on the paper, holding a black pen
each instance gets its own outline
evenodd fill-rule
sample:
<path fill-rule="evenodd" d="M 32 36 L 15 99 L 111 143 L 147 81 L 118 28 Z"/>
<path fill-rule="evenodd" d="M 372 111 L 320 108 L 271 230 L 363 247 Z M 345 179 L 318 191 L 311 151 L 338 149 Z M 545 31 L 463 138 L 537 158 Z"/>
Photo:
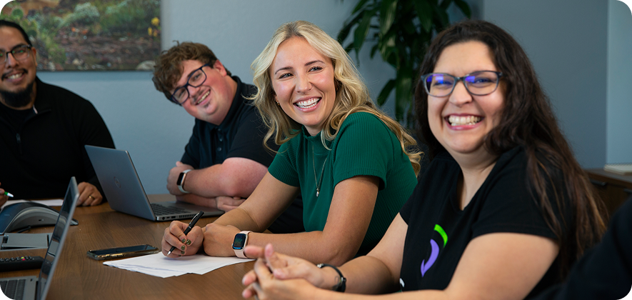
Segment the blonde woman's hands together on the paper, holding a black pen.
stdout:
<path fill-rule="evenodd" d="M 184 234 L 188 226 L 189 224 L 181 221 L 173 221 L 164 230 L 161 241 L 164 256 L 175 258 L 194 255 L 198 253 L 200 247 L 203 247 L 204 252 L 209 256 L 235 256 L 230 245 L 233 244 L 235 235 L 239 234 L 240 230 L 237 227 L 211 223 L 204 229 L 194 226 L 189 234 Z M 171 246 L 175 246 L 176 249 L 168 255 Z"/>

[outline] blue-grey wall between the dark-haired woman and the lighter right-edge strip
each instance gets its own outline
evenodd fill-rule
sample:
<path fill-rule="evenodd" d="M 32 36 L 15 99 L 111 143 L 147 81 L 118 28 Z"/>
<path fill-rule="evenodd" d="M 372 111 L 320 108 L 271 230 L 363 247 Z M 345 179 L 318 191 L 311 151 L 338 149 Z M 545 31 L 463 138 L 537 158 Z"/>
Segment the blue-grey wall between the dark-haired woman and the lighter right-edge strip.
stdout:
<path fill-rule="evenodd" d="M 608 1 L 483 2 L 483 19 L 509 31 L 526 50 L 579 163 L 603 167 Z M 630 66 L 621 68 L 629 72 Z"/>

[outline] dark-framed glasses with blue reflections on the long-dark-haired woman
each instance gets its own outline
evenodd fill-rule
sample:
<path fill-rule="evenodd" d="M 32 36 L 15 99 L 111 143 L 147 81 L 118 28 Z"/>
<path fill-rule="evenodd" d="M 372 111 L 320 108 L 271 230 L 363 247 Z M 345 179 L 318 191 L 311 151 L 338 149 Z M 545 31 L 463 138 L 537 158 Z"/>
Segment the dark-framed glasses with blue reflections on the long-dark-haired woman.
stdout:
<path fill-rule="evenodd" d="M 466 76 L 456 77 L 445 73 L 431 73 L 421 77 L 426 93 L 434 97 L 445 97 L 452 94 L 458 81 L 463 81 L 468 93 L 485 96 L 498 89 L 498 81 L 503 76 L 497 71 L 476 71 Z"/>

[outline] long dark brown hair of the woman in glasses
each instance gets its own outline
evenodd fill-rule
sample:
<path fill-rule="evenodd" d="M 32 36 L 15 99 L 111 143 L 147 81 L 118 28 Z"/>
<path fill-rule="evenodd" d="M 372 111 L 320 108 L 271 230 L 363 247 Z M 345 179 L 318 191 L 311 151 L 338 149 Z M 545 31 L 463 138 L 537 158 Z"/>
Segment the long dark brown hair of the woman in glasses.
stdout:
<path fill-rule="evenodd" d="M 432 41 L 420 67 L 420 79 L 421 75 L 433 72 L 443 49 L 466 41 L 486 44 L 493 64 L 503 72 L 501 84 L 505 104 L 501 120 L 485 137 L 484 146 L 498 156 L 515 146 L 524 147 L 526 184 L 548 226 L 558 237 L 561 276 L 566 276 L 573 261 L 596 244 L 606 230 L 603 202 L 563 136 L 531 61 L 506 31 L 488 21 L 468 20 L 453 24 Z M 423 82 L 416 86 L 415 107 L 418 135 L 428 146 L 429 158 L 433 159 L 443 151 L 443 146 L 433 136 L 428 124 L 428 94 L 423 89 Z M 547 192 L 554 199 L 550 199 Z M 565 207 L 565 202 L 571 207 Z M 555 211 L 566 213 L 561 213 L 559 220 Z"/>

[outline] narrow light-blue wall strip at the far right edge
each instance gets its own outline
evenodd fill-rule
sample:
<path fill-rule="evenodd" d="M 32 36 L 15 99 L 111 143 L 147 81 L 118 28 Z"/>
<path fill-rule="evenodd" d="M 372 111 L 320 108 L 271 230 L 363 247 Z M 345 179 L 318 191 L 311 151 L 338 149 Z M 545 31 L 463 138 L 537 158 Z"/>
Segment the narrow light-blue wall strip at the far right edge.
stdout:
<path fill-rule="evenodd" d="M 632 162 L 632 11 L 608 1 L 608 164 Z"/>

